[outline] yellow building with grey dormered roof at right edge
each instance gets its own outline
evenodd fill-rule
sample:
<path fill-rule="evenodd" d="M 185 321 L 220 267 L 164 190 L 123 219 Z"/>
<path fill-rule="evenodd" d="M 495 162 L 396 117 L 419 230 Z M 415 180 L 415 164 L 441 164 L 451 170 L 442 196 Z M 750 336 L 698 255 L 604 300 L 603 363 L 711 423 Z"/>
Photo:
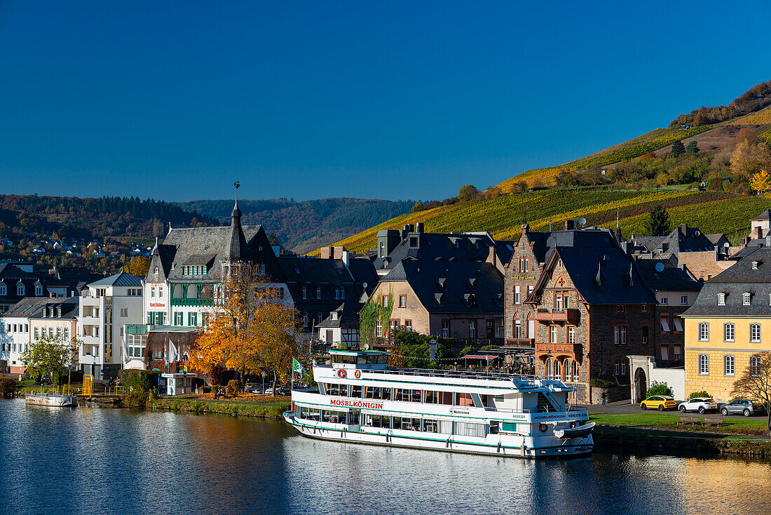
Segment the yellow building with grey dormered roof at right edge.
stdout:
<path fill-rule="evenodd" d="M 733 383 L 771 351 L 771 249 L 760 248 L 707 281 L 685 320 L 685 394 L 732 398 Z"/>

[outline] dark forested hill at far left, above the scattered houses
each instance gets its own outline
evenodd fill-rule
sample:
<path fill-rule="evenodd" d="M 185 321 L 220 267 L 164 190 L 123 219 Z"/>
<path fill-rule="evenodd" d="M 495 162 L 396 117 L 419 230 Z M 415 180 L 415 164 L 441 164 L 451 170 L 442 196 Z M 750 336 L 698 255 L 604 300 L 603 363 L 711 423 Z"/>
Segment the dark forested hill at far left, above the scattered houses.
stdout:
<path fill-rule="evenodd" d="M 168 223 L 178 227 L 216 225 L 171 202 L 136 197 L 52 197 L 0 195 L 0 232 L 56 234 L 58 238 L 163 236 Z"/>

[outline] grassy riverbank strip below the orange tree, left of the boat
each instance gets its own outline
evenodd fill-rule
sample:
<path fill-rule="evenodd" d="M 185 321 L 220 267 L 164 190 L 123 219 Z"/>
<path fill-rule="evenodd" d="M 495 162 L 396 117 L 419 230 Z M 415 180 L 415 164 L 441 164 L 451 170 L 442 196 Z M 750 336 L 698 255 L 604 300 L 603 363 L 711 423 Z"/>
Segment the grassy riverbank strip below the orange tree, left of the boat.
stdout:
<path fill-rule="evenodd" d="M 230 415 L 233 417 L 257 417 L 281 420 L 281 414 L 290 407 L 288 401 L 244 402 L 244 401 L 209 401 L 198 398 L 161 398 L 149 401 L 146 408 L 170 412 L 200 413 L 211 415 Z"/>

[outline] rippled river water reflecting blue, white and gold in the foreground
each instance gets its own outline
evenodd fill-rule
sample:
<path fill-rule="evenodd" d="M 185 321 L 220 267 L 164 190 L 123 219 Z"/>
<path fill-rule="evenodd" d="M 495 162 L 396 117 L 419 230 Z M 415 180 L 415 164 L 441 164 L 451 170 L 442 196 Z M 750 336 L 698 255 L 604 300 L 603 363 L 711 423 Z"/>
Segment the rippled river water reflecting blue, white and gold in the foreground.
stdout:
<path fill-rule="evenodd" d="M 0 401 L 2 513 L 771 513 L 743 459 L 502 459 L 282 422 Z"/>

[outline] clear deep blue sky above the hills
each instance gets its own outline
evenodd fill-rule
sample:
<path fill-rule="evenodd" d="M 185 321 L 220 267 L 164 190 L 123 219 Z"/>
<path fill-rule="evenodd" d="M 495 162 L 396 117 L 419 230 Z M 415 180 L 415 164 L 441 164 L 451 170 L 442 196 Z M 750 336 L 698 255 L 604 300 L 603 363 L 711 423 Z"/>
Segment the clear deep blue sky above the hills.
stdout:
<path fill-rule="evenodd" d="M 754 14 L 753 14 L 754 13 Z M 2 192 L 446 198 L 771 79 L 746 2 L 6 2 Z"/>

